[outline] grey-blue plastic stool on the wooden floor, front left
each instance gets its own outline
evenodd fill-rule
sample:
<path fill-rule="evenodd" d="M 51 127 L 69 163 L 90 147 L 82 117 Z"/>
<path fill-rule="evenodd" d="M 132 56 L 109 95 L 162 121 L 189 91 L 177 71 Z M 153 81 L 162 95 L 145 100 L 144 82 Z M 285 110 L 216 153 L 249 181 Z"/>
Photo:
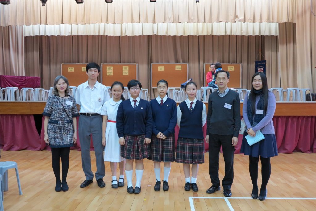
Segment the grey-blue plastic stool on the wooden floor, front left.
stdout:
<path fill-rule="evenodd" d="M 1 194 L 3 200 L 3 191 L 8 190 L 8 169 L 15 168 L 16 180 L 18 182 L 19 193 L 22 195 L 19 172 L 18 172 L 18 165 L 14 161 L 5 161 L 0 162 L 0 175 L 2 176 L 3 180 L 1 181 Z"/>

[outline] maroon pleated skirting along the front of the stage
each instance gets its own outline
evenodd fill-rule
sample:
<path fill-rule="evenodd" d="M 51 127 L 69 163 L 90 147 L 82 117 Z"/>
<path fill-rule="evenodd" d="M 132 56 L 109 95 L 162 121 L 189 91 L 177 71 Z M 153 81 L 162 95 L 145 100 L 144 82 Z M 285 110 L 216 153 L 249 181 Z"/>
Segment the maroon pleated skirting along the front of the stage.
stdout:
<path fill-rule="evenodd" d="M 40 136 L 35 127 L 33 115 L 0 115 L 0 148 L 6 150 L 43 150 L 49 149 L 44 142 L 44 117 Z M 78 119 L 77 119 L 78 120 Z M 77 121 L 78 122 L 78 121 Z M 316 117 L 315 116 L 276 116 L 273 118 L 279 153 L 316 153 Z M 206 135 L 206 125 L 203 127 Z M 177 137 L 179 128 L 175 128 Z M 77 144 L 71 149 L 80 150 L 79 135 Z M 242 135 L 238 137 L 235 153 L 240 153 Z M 205 143 L 205 151 L 208 151 Z M 91 150 L 93 145 L 91 142 Z"/>

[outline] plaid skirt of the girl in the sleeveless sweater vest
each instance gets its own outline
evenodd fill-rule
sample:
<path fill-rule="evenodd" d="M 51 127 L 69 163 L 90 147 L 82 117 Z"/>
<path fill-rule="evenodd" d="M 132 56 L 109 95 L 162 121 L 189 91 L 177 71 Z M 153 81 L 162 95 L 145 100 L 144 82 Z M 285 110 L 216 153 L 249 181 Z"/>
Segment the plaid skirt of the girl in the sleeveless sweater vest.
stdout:
<path fill-rule="evenodd" d="M 184 164 L 204 163 L 204 140 L 179 137 L 176 162 Z"/>

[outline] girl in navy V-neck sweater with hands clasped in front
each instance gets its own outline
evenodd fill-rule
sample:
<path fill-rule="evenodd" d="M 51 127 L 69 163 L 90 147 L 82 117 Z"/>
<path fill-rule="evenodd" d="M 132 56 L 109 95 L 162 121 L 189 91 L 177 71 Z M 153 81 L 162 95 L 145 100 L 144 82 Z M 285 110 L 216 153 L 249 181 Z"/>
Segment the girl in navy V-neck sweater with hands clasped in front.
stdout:
<path fill-rule="evenodd" d="M 153 114 L 153 134 L 151 136 L 151 157 L 154 161 L 156 176 L 155 191 L 160 190 L 160 162 L 164 162 L 162 190 L 169 190 L 168 178 L 171 162 L 175 161 L 174 127 L 177 124 L 177 105 L 173 99 L 168 98 L 168 82 L 160 80 L 157 83 L 159 96 L 152 99 L 149 104 Z"/>

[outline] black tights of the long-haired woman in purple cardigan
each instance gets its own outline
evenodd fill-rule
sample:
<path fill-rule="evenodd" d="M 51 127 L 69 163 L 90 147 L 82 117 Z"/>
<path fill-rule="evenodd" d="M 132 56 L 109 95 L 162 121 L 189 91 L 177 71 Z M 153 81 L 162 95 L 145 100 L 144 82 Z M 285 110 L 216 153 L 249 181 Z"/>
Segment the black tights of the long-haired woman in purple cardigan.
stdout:
<path fill-rule="evenodd" d="M 262 177 L 262 184 L 260 188 L 260 192 L 265 192 L 267 189 L 267 184 L 271 175 L 271 164 L 270 158 L 263 158 L 260 157 L 261 160 L 261 177 Z M 252 181 L 252 193 L 258 194 L 258 162 L 259 158 L 249 156 L 249 173 L 250 178 Z"/>

